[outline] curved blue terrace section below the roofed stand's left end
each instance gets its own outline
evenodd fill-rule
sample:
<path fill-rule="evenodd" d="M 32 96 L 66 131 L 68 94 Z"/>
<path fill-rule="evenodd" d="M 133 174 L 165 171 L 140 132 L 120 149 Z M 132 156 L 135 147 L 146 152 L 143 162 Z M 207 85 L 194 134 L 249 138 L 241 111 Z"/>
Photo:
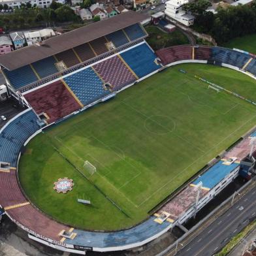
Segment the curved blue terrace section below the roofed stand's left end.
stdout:
<path fill-rule="evenodd" d="M 32 110 L 10 122 L 0 134 L 0 161 L 16 167 L 20 148 L 39 128 L 37 116 Z"/>

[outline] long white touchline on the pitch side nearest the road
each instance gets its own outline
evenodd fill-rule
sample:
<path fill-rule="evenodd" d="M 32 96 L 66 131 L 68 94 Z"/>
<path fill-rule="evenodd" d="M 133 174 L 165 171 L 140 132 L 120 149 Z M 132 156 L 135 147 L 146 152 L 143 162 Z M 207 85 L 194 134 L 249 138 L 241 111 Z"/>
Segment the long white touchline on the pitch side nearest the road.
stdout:
<path fill-rule="evenodd" d="M 157 189 L 155 192 L 152 193 L 152 195 L 150 195 L 150 197 L 148 197 L 147 199 L 145 199 L 143 202 L 141 202 L 140 204 L 138 204 L 138 206 L 140 206 L 141 204 L 144 204 L 144 202 L 146 202 L 147 200 L 149 200 L 151 197 L 153 197 L 153 195 L 155 195 L 155 193 L 158 193 L 161 189 L 163 189 L 164 187 L 166 187 L 170 182 L 172 182 L 177 176 L 179 176 L 180 174 L 184 173 L 187 168 L 191 167 L 194 163 L 196 163 L 197 161 L 199 161 L 199 159 L 201 159 L 202 157 L 204 157 L 204 155 L 206 155 L 206 153 L 212 151 L 214 148 L 216 148 L 216 146 L 218 146 L 219 144 L 221 144 L 224 140 L 227 140 L 227 138 L 229 138 L 230 136 L 232 136 L 234 133 L 236 133 L 236 131 L 239 131 L 244 125 L 246 125 L 246 123 L 248 123 L 249 121 L 253 120 L 253 118 L 255 118 L 255 116 L 249 118 L 248 121 L 246 121 L 245 123 L 243 123 L 242 125 L 240 125 L 240 127 L 238 127 L 237 129 L 235 129 L 232 133 L 229 133 L 228 136 L 226 136 L 225 138 L 223 138 L 222 140 L 220 140 L 220 142 L 218 142 L 217 144 L 214 144 L 214 146 L 212 148 L 210 148 L 207 152 L 203 153 L 200 157 L 198 157 L 197 159 L 195 159 L 195 161 L 193 161 L 193 163 L 191 163 L 190 165 L 188 165 L 187 167 L 184 168 L 184 170 L 182 170 L 181 172 L 178 172 L 177 175 L 175 175 L 171 180 L 169 180 L 166 184 L 164 184 L 162 187 L 159 187 L 159 189 Z M 178 189 L 178 187 L 176 187 L 176 189 Z M 230 216 L 231 214 L 229 214 L 228 216 Z"/>

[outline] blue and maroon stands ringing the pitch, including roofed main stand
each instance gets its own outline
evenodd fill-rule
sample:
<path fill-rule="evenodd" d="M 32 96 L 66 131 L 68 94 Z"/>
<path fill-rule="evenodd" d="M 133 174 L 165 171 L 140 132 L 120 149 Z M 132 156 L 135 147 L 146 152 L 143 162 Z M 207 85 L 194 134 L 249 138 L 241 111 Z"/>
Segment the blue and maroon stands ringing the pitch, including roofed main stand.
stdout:
<path fill-rule="evenodd" d="M 172 46 L 153 52 L 144 41 L 147 34 L 140 25 L 143 19 L 141 14 L 126 12 L 103 21 L 104 26 L 98 22 L 48 39 L 42 46 L 0 56 L 10 93 L 22 98 L 28 107 L 0 130 L 0 163 L 8 166 L 0 169 L 0 206 L 34 240 L 81 254 L 89 249 L 110 251 L 141 246 L 200 210 L 238 175 L 240 161 L 248 155 L 246 138 L 161 206 L 154 216 L 125 231 L 73 229 L 45 216 L 26 199 L 16 169 L 24 144 L 42 131 L 40 119 L 43 125 L 57 123 L 177 61 L 227 64 L 256 76 L 255 57 L 230 49 Z M 114 49 L 109 48 L 109 42 Z M 10 61 L 12 58 L 17 61 Z M 236 161 L 227 164 L 226 158 L 231 157 Z M 198 189 L 200 197 L 195 208 Z M 163 213 L 168 218 L 162 221 Z M 63 237 L 61 231 L 73 232 L 74 237 Z"/>

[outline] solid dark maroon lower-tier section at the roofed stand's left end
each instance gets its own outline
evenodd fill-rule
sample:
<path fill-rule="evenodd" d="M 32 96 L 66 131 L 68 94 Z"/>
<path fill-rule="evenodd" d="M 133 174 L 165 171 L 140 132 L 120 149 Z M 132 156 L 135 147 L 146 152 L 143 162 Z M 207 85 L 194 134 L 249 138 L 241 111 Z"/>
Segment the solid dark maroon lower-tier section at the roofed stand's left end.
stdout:
<path fill-rule="evenodd" d="M 37 114 L 45 112 L 48 123 L 59 120 L 80 108 L 69 90 L 60 80 L 24 95 Z"/>

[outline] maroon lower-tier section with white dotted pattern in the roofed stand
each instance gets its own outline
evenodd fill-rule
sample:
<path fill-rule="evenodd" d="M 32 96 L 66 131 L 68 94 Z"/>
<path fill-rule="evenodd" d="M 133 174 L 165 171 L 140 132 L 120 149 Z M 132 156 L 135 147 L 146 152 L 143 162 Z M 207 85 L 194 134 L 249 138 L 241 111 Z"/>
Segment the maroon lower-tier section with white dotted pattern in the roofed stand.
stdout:
<path fill-rule="evenodd" d="M 118 56 L 106 59 L 94 65 L 93 68 L 103 78 L 104 82 L 110 84 L 113 89 L 120 89 L 136 80 L 134 74 Z"/>

